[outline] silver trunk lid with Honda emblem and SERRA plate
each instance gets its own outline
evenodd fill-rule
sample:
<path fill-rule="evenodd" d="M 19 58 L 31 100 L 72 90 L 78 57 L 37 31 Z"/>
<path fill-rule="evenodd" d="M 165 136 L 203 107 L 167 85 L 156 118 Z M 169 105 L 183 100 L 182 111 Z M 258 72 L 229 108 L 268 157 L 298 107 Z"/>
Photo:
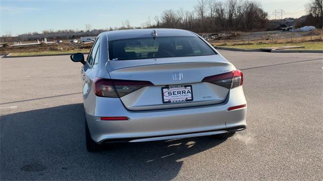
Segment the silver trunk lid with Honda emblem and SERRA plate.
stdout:
<path fill-rule="evenodd" d="M 205 77 L 232 71 L 235 68 L 221 55 L 209 55 L 112 60 L 107 62 L 106 69 L 112 79 L 153 83 L 120 98 L 128 110 L 140 111 L 222 103 L 227 98 L 229 89 L 201 81 Z M 189 94 L 190 92 L 192 93 Z M 189 99 L 183 101 L 180 98 L 178 102 L 176 99 L 173 100 L 172 94 L 181 97 L 182 93 L 182 96 L 188 96 Z M 169 99 L 168 94 L 172 95 L 172 99 Z"/>

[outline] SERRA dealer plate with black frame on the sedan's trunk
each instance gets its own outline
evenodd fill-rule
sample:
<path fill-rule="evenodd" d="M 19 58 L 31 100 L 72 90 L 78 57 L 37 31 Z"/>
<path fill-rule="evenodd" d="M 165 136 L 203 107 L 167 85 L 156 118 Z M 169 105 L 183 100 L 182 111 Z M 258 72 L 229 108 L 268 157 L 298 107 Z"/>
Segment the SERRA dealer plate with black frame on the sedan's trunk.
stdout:
<path fill-rule="evenodd" d="M 170 91 L 172 91 L 171 93 L 172 96 L 165 95 Z M 176 95 L 173 95 L 174 91 L 176 92 Z M 185 92 L 185 94 L 182 94 L 184 93 L 183 91 Z M 188 91 L 190 91 L 191 96 L 189 96 Z M 181 93 L 181 94 L 178 94 L 178 93 Z M 185 96 L 183 97 L 182 95 L 185 95 Z M 161 98 L 163 99 L 163 104 L 191 102 L 194 100 L 192 85 L 171 85 L 171 86 L 161 87 Z"/>

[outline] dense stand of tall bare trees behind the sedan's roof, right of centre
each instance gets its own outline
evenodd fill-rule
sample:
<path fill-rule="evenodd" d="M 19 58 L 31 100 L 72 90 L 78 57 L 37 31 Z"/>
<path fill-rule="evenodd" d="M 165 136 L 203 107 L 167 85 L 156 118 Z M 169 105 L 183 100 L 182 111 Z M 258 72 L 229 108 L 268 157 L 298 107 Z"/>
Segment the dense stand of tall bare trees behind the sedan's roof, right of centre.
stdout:
<path fill-rule="evenodd" d="M 166 10 L 150 18 L 145 28 L 179 28 L 194 32 L 263 30 L 267 13 L 259 3 L 248 0 L 200 0 L 193 11 Z"/>

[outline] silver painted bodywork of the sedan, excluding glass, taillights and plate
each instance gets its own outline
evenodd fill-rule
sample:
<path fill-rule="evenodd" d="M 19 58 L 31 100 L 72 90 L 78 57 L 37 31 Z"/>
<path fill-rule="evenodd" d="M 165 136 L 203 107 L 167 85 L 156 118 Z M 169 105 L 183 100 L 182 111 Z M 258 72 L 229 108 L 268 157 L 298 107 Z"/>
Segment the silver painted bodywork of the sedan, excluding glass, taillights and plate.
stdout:
<path fill-rule="evenodd" d="M 137 31 L 140 30 L 133 30 L 135 33 Z M 147 36 L 148 30 L 143 31 L 145 35 L 138 33 L 134 36 Z M 163 29 L 165 36 L 167 31 L 167 29 Z M 174 35 L 183 31 L 176 30 Z M 158 136 L 159 138 L 168 139 L 170 138 L 167 137 L 168 135 L 175 134 L 184 134 L 189 137 L 192 136 L 190 133 L 195 134 L 203 131 L 212 131 L 209 134 L 221 134 L 223 131 L 217 130 L 246 125 L 246 107 L 227 111 L 229 107 L 246 104 L 242 86 L 227 89 L 219 85 L 201 82 L 203 77 L 236 69 L 221 54 L 217 52 L 217 55 L 204 57 L 176 57 L 175 61 L 174 58 L 110 60 L 107 51 L 109 48 L 107 43 L 110 40 L 109 36 L 110 34 L 115 35 L 115 37 L 112 37 L 114 39 L 119 35 L 119 38 L 131 37 L 132 30 L 127 32 L 126 36 L 121 36 L 122 32 L 101 33 L 98 36 L 98 39 L 100 39 L 99 61 L 94 65 L 86 62 L 81 68 L 81 75 L 84 80 L 84 111 L 91 137 L 95 142 L 103 143 L 106 140 L 123 138 L 149 141 L 153 139 L 148 139 L 147 137 Z M 159 36 L 161 30 L 156 29 L 156 32 Z M 189 31 L 184 32 L 185 36 L 188 36 L 187 34 L 197 36 Z M 160 33 L 160 35 L 163 34 Z M 207 42 L 205 43 L 208 44 Z M 214 48 L 212 49 L 216 51 Z M 182 81 L 172 79 L 172 73 L 174 72 L 183 73 L 184 78 Z M 138 89 L 122 98 L 98 97 L 94 94 L 93 88 L 95 77 L 147 80 L 151 81 L 154 86 Z M 194 85 L 193 95 L 195 102 L 163 105 L 161 103 L 161 87 L 170 84 Z M 209 92 L 212 98 L 202 100 L 201 90 L 203 94 Z M 157 92 L 158 95 L 155 96 Z M 146 97 L 147 95 L 154 96 Z M 100 120 L 101 117 L 118 116 L 128 117 L 129 120 Z M 159 138 L 156 140 L 159 140 Z"/>

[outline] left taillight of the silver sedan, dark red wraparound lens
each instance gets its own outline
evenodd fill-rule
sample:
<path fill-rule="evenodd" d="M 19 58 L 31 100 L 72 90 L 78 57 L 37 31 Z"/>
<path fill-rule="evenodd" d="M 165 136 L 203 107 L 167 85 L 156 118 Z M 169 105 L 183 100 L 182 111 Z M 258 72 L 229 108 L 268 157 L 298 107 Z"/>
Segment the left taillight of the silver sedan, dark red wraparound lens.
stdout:
<path fill-rule="evenodd" d="M 96 77 L 94 92 L 96 96 L 119 98 L 138 89 L 153 85 L 150 81 L 105 79 Z"/>

